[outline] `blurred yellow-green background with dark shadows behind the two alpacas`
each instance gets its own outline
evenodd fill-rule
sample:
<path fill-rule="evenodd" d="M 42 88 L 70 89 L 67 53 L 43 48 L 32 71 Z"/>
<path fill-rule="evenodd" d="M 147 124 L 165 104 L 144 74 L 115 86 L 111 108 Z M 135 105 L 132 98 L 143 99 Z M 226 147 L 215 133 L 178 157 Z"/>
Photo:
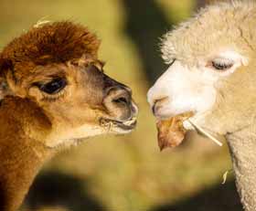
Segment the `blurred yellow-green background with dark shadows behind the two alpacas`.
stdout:
<path fill-rule="evenodd" d="M 37 176 L 22 210 L 239 211 L 227 146 L 190 133 L 159 152 L 146 91 L 167 68 L 159 37 L 197 10 L 196 0 L 1 0 L 0 45 L 38 20 L 72 20 L 101 37 L 105 71 L 133 89 L 137 129 L 101 136 L 59 153 Z"/>

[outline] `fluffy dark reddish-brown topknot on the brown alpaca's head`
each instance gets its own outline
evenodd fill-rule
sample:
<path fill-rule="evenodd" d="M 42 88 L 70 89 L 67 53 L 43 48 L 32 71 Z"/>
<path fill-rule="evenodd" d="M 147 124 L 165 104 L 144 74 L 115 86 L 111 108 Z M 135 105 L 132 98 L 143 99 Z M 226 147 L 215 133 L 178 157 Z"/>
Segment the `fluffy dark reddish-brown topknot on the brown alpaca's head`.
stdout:
<path fill-rule="evenodd" d="M 85 26 L 55 22 L 32 27 L 15 38 L 2 52 L 2 71 L 12 69 L 16 80 L 26 77 L 37 66 L 65 63 L 82 55 L 97 58 L 100 40 Z"/>

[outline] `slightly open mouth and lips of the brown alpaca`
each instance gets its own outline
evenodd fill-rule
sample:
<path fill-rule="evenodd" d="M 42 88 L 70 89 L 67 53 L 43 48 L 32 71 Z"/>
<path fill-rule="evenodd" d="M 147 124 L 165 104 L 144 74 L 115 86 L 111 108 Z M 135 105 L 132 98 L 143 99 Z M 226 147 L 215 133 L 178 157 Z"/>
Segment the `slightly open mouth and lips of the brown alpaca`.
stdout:
<path fill-rule="evenodd" d="M 137 124 L 137 120 L 135 117 L 131 118 L 128 121 L 116 121 L 112 119 L 101 119 L 100 124 L 102 127 L 109 128 L 110 130 L 112 128 L 118 128 L 123 131 L 132 131 Z"/>

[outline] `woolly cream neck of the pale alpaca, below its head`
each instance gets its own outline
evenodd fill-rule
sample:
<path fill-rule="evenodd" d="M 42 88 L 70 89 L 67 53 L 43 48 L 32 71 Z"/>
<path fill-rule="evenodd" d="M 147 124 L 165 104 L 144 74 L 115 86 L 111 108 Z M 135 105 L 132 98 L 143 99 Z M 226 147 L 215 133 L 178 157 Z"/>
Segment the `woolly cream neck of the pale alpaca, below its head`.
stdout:
<path fill-rule="evenodd" d="M 254 122 L 255 123 L 255 122 Z M 254 124 L 255 125 L 255 124 Z M 246 211 L 256 210 L 256 127 L 227 136 L 241 203 Z"/>

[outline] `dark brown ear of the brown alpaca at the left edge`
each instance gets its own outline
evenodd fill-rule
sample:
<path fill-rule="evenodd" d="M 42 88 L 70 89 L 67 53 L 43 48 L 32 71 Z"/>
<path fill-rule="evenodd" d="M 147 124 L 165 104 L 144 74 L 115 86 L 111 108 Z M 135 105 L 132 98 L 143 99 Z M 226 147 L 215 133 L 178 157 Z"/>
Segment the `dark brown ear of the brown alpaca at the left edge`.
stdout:
<path fill-rule="evenodd" d="M 13 69 L 12 61 L 0 58 L 0 100 L 4 99 L 7 95 L 14 95 L 5 78 L 7 69 Z"/>

